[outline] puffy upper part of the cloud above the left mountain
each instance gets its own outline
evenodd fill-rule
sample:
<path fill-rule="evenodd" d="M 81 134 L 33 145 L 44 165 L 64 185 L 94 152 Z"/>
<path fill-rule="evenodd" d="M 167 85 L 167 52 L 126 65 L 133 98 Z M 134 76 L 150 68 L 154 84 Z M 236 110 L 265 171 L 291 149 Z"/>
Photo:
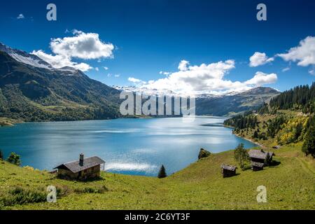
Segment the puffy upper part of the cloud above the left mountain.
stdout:
<path fill-rule="evenodd" d="M 53 38 L 50 48 L 56 55 L 80 59 L 99 59 L 113 57 L 114 46 L 99 39 L 99 34 L 73 31 L 75 36 Z"/>

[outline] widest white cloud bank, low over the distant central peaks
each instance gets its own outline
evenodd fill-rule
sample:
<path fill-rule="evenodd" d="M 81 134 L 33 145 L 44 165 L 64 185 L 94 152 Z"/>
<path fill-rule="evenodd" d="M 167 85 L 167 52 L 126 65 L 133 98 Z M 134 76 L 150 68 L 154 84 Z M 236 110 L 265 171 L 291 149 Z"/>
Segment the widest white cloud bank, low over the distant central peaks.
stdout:
<path fill-rule="evenodd" d="M 184 66 L 183 66 L 184 64 Z M 188 66 L 189 62 L 183 61 L 179 64 L 179 71 L 171 73 L 166 78 L 144 80 L 129 78 L 128 80 L 136 83 L 138 90 L 154 90 L 158 94 L 174 92 L 179 95 L 194 94 L 223 94 L 227 92 L 241 92 L 252 87 L 268 83 L 274 83 L 277 79 L 276 74 L 256 73 L 251 80 L 245 82 L 232 81 L 225 79 L 232 69 L 235 69 L 235 61 L 216 62 L 211 64 L 200 64 Z"/>

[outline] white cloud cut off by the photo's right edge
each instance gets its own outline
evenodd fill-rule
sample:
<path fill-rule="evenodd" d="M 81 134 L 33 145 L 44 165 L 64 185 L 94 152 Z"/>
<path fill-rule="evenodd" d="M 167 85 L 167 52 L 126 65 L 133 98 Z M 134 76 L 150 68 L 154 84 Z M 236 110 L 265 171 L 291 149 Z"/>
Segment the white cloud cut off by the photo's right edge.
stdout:
<path fill-rule="evenodd" d="M 315 36 L 307 36 L 297 47 L 278 56 L 285 61 L 297 62 L 299 66 L 315 65 Z"/>

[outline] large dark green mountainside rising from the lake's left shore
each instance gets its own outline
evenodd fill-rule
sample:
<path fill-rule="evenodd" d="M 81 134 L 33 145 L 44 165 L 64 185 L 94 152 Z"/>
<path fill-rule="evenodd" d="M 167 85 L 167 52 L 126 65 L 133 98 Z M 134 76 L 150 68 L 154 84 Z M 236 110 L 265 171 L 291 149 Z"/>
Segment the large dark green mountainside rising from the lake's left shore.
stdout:
<path fill-rule="evenodd" d="M 24 121 L 120 117 L 120 92 L 82 71 L 44 69 L 0 50 L 0 117 Z"/>

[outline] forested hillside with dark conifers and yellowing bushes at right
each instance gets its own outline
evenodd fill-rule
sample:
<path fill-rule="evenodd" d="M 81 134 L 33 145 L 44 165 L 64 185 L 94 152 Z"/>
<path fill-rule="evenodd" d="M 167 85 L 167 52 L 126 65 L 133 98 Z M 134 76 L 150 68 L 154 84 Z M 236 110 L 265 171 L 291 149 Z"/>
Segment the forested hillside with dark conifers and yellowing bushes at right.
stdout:
<path fill-rule="evenodd" d="M 286 145 L 303 141 L 302 151 L 315 157 L 315 83 L 281 93 L 258 111 L 225 120 L 234 133 L 255 141 Z"/>

